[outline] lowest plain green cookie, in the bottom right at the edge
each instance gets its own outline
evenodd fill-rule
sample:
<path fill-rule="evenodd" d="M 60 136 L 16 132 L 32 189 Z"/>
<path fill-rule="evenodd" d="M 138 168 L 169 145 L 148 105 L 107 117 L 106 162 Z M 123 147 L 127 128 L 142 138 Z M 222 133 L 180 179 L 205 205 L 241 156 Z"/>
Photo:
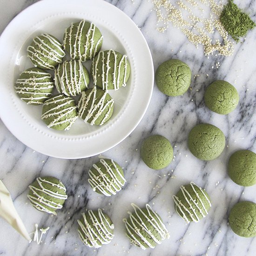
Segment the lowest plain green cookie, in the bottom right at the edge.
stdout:
<path fill-rule="evenodd" d="M 256 203 L 236 203 L 229 214 L 229 226 L 238 236 L 256 236 Z"/>

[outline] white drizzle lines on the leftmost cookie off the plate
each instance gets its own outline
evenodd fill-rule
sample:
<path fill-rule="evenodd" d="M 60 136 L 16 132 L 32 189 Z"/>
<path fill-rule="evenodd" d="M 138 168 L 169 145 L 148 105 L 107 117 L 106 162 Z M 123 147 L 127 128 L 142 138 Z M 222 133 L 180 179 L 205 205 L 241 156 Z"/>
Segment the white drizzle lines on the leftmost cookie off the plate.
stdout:
<path fill-rule="evenodd" d="M 60 203 L 56 203 L 54 201 L 50 201 L 48 199 L 46 199 L 43 195 L 40 195 L 41 192 L 43 192 L 46 195 L 50 195 L 53 198 L 57 198 L 57 199 L 61 199 L 61 200 L 66 200 L 67 199 L 67 195 L 61 195 L 58 192 L 53 192 L 50 189 L 46 189 L 45 188 L 45 184 L 48 183 L 52 186 L 56 186 L 59 189 L 64 190 L 64 192 L 66 192 L 66 188 L 65 186 L 62 184 L 62 182 L 60 181 L 59 183 L 53 183 L 53 182 L 49 182 L 46 179 L 40 178 L 38 177 L 36 179 L 38 185 L 40 188 L 37 188 L 33 185 L 29 185 L 29 189 L 33 192 L 33 195 L 27 195 L 28 199 L 30 200 L 31 204 L 34 206 L 34 208 L 43 211 L 43 212 L 47 212 L 53 215 L 57 215 L 55 210 L 56 209 L 61 209 L 62 205 Z M 48 209 L 47 207 L 51 208 Z"/>

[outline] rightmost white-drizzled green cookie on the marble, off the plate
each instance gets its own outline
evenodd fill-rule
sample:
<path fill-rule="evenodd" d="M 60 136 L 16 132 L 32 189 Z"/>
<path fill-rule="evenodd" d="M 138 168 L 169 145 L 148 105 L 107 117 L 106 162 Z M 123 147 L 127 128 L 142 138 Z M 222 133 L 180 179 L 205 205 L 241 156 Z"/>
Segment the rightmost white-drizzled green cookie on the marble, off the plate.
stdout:
<path fill-rule="evenodd" d="M 173 195 L 175 210 L 187 223 L 199 222 L 208 215 L 211 207 L 210 197 L 194 182 L 181 186 L 176 195 Z"/>

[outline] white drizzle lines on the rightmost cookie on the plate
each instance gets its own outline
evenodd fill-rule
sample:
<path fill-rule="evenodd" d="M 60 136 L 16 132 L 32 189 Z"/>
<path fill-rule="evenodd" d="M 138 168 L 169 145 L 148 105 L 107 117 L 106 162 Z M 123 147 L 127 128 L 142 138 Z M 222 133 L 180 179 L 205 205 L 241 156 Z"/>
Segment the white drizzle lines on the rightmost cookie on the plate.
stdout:
<path fill-rule="evenodd" d="M 114 72 L 111 73 L 110 69 L 111 67 L 109 66 L 110 62 L 110 55 L 114 55 Z M 102 63 L 102 70 L 99 70 L 98 64 L 101 61 Z M 124 75 L 123 78 L 121 78 L 121 67 L 124 67 Z M 92 63 L 92 76 L 93 76 L 93 81 L 94 85 L 98 85 L 97 79 L 98 77 L 101 77 L 101 83 L 102 83 L 102 88 L 103 90 L 108 90 L 111 89 L 109 88 L 109 82 L 108 82 L 108 77 L 112 76 L 113 77 L 113 87 L 115 90 L 118 90 L 121 86 L 126 87 L 126 77 L 127 77 L 127 66 L 128 66 L 128 60 L 127 60 L 127 55 L 122 55 L 121 60 L 117 61 L 117 54 L 113 49 L 108 50 L 107 52 L 105 51 L 100 51 L 99 54 L 94 58 L 93 63 Z M 105 72 L 106 70 L 106 72 Z"/>

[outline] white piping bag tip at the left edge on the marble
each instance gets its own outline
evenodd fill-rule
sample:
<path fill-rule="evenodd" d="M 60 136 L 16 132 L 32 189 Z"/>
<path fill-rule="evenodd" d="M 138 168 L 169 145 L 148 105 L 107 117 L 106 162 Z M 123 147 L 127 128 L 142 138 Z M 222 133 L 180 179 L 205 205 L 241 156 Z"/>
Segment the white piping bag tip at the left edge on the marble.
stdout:
<path fill-rule="evenodd" d="M 31 238 L 27 233 L 27 229 L 25 228 L 20 216 L 18 215 L 16 209 L 13 205 L 13 200 L 10 195 L 10 192 L 4 185 L 4 183 L 0 180 L 0 217 L 5 219 L 14 229 L 16 229 L 20 235 L 26 238 L 29 243 L 31 242 Z"/>

